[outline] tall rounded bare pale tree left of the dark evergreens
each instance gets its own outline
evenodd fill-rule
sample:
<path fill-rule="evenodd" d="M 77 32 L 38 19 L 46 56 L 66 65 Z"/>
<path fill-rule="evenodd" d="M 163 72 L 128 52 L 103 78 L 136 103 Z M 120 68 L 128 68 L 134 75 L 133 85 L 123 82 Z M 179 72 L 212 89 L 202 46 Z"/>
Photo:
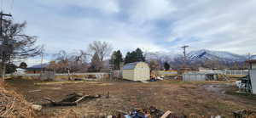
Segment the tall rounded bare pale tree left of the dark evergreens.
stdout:
<path fill-rule="evenodd" d="M 91 56 L 97 53 L 100 60 L 103 61 L 111 53 L 112 46 L 108 42 L 94 41 L 89 44 L 89 51 Z"/>

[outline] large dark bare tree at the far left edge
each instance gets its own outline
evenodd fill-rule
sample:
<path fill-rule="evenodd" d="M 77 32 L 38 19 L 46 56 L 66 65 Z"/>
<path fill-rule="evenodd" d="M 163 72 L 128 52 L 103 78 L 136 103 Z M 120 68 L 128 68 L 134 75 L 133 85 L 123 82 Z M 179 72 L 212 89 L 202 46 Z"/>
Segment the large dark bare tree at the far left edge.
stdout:
<path fill-rule="evenodd" d="M 36 46 L 37 37 L 27 36 L 24 32 L 26 22 L 14 23 L 12 20 L 3 20 L 3 34 L 0 39 L 0 58 L 2 79 L 4 81 L 6 64 L 14 59 L 26 59 L 42 53 L 42 46 Z"/>

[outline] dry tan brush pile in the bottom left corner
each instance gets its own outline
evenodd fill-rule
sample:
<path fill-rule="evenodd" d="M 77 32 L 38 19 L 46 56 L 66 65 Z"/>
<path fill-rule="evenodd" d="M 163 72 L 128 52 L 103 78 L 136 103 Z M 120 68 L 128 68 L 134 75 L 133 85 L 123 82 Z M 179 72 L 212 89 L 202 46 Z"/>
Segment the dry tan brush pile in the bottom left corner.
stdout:
<path fill-rule="evenodd" d="M 6 90 L 0 83 L 0 117 L 33 117 L 31 105 L 19 94 Z"/>

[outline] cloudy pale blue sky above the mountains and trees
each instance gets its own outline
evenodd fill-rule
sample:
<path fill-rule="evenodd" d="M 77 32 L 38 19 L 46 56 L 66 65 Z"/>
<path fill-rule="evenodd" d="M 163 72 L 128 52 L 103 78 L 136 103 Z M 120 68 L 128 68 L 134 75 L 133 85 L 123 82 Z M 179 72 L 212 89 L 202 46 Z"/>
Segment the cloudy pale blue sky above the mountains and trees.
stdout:
<path fill-rule="evenodd" d="M 183 45 L 256 53 L 255 0 L 2 0 L 1 6 L 16 22 L 26 20 L 26 33 L 38 37 L 45 53 L 86 50 L 93 41 L 123 53 L 182 53 Z"/>

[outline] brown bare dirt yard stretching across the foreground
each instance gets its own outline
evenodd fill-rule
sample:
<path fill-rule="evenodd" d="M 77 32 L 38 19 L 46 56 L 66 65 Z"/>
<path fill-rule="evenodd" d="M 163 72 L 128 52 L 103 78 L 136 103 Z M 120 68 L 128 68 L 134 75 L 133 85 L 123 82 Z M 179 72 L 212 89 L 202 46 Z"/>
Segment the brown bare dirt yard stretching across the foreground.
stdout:
<path fill-rule="evenodd" d="M 40 82 L 27 79 L 10 79 L 9 89 L 24 95 L 33 104 L 48 103 L 43 98 L 56 101 L 69 93 L 102 94 L 110 98 L 84 101 L 77 106 L 50 107 L 38 112 L 38 117 L 63 115 L 73 110 L 78 115 L 113 115 L 115 110 L 130 111 L 133 108 L 155 106 L 171 110 L 178 115 L 232 116 L 234 110 L 256 110 L 256 97 L 237 95 L 234 83 L 223 81 L 183 82 L 152 81 L 80 81 L 76 83 Z M 38 90 L 35 92 L 29 92 Z"/>

